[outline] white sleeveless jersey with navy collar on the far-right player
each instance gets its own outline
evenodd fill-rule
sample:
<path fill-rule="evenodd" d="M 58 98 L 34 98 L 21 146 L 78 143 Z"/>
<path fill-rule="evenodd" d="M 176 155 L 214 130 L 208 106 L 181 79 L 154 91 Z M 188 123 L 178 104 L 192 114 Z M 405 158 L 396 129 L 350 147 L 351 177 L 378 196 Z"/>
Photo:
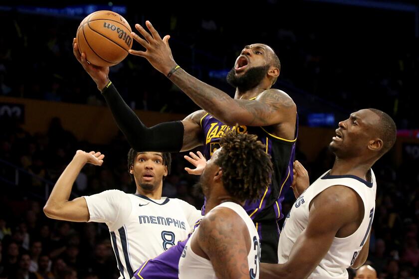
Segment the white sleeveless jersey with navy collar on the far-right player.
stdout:
<path fill-rule="evenodd" d="M 283 264 L 288 261 L 295 241 L 307 227 L 310 202 L 326 188 L 334 185 L 344 185 L 356 191 L 364 202 L 364 219 L 352 235 L 345 238 L 334 238 L 329 251 L 308 278 L 346 279 L 348 278 L 346 269 L 356 260 L 371 230 L 375 212 L 377 182 L 372 169 L 372 182 L 354 175 L 329 175 L 329 172 L 330 170 L 311 184 L 292 206 L 279 237 L 278 263 Z"/>

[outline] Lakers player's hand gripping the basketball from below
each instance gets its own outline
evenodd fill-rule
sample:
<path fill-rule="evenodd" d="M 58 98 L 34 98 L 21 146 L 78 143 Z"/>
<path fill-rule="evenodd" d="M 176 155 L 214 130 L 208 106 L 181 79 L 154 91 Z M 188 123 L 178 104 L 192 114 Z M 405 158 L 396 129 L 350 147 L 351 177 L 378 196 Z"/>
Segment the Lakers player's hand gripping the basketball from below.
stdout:
<path fill-rule="evenodd" d="M 109 83 L 109 67 L 99 67 L 87 62 L 86 54 L 84 54 L 84 52 L 80 54 L 76 38 L 73 38 L 73 54 L 76 57 L 77 61 L 79 61 L 80 64 L 83 66 L 84 70 L 96 83 L 97 89 L 102 91 L 105 88 L 105 86 Z"/>

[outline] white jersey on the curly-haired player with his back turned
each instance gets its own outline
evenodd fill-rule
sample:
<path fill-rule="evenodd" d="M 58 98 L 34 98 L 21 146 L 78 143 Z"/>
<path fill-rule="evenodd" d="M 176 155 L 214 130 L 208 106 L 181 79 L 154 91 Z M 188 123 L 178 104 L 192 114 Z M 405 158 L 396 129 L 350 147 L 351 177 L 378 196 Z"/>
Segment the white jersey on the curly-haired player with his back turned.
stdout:
<path fill-rule="evenodd" d="M 247 226 L 250 238 L 250 251 L 247 255 L 249 265 L 249 278 L 259 278 L 260 262 L 260 241 L 253 221 L 247 215 L 246 211 L 239 204 L 234 202 L 223 202 L 217 207 L 227 207 L 237 213 Z M 194 253 L 191 249 L 191 241 L 198 234 L 200 227 L 195 229 L 194 233 L 186 243 L 182 257 L 179 260 L 179 279 L 216 279 L 214 269 L 209 260 L 204 259 Z"/>

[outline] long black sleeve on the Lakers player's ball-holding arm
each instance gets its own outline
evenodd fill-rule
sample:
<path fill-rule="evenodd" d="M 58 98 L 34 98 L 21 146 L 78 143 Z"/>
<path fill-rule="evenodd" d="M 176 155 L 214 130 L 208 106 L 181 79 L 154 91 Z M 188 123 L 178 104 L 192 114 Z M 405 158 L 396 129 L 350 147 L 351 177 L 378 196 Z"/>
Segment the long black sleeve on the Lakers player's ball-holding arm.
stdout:
<path fill-rule="evenodd" d="M 165 122 L 147 128 L 128 107 L 113 84 L 102 91 L 119 129 L 136 151 L 179 152 L 183 145 L 181 121 Z"/>

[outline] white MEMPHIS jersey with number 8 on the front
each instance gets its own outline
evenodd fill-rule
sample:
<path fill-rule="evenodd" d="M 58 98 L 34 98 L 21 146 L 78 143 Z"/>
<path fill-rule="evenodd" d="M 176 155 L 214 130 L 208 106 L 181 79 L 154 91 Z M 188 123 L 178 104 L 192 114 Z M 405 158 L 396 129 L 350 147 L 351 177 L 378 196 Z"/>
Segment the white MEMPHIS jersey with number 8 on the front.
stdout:
<path fill-rule="evenodd" d="M 84 198 L 89 222 L 109 227 L 120 279 L 132 278 L 146 260 L 185 240 L 202 218 L 200 210 L 179 199 L 153 200 L 119 190 Z"/>

